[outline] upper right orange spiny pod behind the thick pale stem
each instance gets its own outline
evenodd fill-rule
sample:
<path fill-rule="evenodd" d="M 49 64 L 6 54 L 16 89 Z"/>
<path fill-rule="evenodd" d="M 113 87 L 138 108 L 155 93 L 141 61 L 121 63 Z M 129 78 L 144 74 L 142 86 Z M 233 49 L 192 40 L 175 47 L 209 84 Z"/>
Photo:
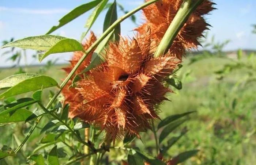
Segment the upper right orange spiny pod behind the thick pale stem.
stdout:
<path fill-rule="evenodd" d="M 159 0 L 143 8 L 146 21 L 135 30 L 140 34 L 144 34 L 149 26 L 151 28 L 151 38 L 153 39 L 151 46 L 156 47 L 172 23 L 182 2 L 183 0 Z M 207 30 L 209 26 L 204 20 L 203 15 L 215 9 L 212 7 L 213 5 L 214 3 L 210 0 L 204 0 L 191 14 L 169 49 L 172 56 L 181 60 L 185 50 L 196 49 L 200 45 L 198 38 L 203 36 L 203 31 Z"/>

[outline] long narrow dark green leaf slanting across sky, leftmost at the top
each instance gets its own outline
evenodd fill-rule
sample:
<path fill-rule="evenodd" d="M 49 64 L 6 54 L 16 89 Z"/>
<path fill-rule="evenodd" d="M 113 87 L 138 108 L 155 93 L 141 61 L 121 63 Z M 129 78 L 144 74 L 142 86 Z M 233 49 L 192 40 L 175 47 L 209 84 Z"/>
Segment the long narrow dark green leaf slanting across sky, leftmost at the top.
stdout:
<path fill-rule="evenodd" d="M 57 26 L 53 26 L 46 34 L 50 34 L 53 31 L 57 30 L 58 28 L 60 28 L 60 27 L 64 26 L 65 24 L 71 22 L 75 18 L 79 17 L 80 15 L 89 11 L 90 9 L 94 8 L 100 2 L 101 2 L 101 0 L 95 0 L 95 1 L 91 1 L 89 3 L 82 4 L 82 5 L 74 8 L 71 12 L 64 15 L 63 18 L 61 18 L 59 20 L 59 24 Z"/>

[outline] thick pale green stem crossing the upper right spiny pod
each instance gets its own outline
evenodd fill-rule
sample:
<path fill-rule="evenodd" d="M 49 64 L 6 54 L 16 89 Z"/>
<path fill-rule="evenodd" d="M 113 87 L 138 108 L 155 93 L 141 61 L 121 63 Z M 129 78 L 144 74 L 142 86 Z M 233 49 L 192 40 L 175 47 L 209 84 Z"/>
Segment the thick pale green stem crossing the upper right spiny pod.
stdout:
<path fill-rule="evenodd" d="M 172 45 L 174 39 L 178 35 L 180 29 L 187 22 L 191 13 L 203 2 L 204 0 L 184 0 L 177 14 L 175 15 L 172 23 L 165 32 L 157 51 L 154 54 L 154 57 L 161 57 L 165 54 L 169 47 Z"/>

